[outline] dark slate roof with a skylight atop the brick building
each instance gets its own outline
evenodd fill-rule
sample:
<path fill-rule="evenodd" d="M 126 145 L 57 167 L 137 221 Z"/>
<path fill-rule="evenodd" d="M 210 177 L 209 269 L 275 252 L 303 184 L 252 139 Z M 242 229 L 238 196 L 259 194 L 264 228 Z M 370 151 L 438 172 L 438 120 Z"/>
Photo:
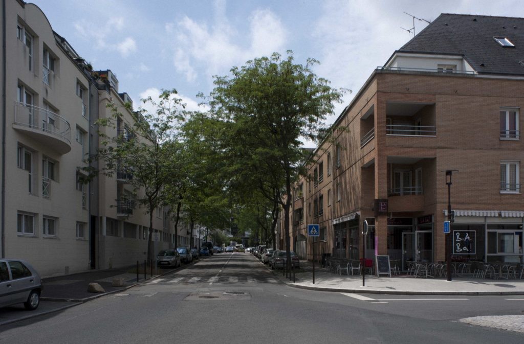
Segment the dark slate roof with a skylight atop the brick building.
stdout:
<path fill-rule="evenodd" d="M 524 18 L 441 14 L 397 52 L 461 55 L 479 74 L 524 75 Z"/>

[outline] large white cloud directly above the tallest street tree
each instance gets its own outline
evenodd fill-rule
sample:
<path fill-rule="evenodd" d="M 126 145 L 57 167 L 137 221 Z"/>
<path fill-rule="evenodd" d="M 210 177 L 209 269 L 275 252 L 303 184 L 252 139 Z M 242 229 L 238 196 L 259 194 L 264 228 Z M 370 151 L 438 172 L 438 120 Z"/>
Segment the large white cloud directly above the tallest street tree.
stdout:
<path fill-rule="evenodd" d="M 225 74 L 233 65 L 243 65 L 261 55 L 269 56 L 285 46 L 287 30 L 270 10 L 254 10 L 247 18 L 246 33 L 231 26 L 224 2 L 216 2 L 214 9 L 211 26 L 187 16 L 175 24 L 165 25 L 169 37 L 173 38 L 170 32 L 174 34 L 171 48 L 174 66 L 187 81 L 202 77 L 196 72 L 200 70 L 211 82 L 212 75 Z"/>

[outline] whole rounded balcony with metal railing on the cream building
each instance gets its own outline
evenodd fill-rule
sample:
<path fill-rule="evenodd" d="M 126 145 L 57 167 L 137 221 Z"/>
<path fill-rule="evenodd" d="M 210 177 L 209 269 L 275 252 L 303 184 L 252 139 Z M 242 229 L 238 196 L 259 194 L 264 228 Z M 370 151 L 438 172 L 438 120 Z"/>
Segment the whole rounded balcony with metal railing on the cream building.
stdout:
<path fill-rule="evenodd" d="M 13 129 L 24 132 L 59 154 L 71 151 L 71 125 L 47 109 L 15 102 Z"/>

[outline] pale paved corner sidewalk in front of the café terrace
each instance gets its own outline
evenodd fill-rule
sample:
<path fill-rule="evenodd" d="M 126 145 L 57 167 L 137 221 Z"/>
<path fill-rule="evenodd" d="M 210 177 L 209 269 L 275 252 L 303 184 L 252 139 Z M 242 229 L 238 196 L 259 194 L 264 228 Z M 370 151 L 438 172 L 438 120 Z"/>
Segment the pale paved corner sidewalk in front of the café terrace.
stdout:
<path fill-rule="evenodd" d="M 300 272 L 291 279 L 275 271 L 280 281 L 289 286 L 330 292 L 361 293 L 361 294 L 403 294 L 403 295 L 524 295 L 523 279 L 480 279 L 473 277 L 453 277 L 449 282 L 445 278 L 414 278 L 399 275 L 391 278 L 381 275 L 365 276 L 365 286 L 362 286 L 362 275 L 335 274 L 321 269 L 315 264 L 315 283 L 313 284 L 312 263 L 300 261 Z"/>

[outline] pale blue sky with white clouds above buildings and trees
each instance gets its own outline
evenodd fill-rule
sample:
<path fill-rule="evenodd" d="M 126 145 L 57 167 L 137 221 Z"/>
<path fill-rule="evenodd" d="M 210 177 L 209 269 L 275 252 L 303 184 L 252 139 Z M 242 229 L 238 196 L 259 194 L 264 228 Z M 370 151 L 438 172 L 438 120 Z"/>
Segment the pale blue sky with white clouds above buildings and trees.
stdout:
<path fill-rule="evenodd" d="M 331 124 L 377 66 L 441 13 L 524 17 L 522 0 L 34 0 L 95 70 L 140 99 L 176 88 L 187 109 L 213 75 L 270 56 L 320 61 L 314 72 L 347 92 Z M 408 14 L 406 14 L 407 12 Z M 411 31 L 412 32 L 412 31 Z M 314 147 L 314 145 L 306 144 Z"/>

